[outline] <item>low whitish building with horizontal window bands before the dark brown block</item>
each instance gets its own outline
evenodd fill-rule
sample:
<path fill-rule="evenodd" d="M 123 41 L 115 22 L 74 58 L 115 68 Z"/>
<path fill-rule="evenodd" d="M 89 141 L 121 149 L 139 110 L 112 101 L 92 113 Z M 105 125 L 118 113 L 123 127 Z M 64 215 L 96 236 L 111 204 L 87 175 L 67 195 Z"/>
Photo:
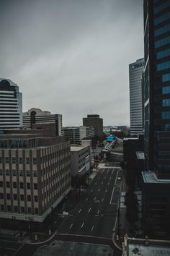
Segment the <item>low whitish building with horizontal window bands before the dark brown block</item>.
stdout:
<path fill-rule="evenodd" d="M 94 127 L 63 127 L 63 136 L 71 143 L 80 143 L 83 139 L 94 137 Z"/>

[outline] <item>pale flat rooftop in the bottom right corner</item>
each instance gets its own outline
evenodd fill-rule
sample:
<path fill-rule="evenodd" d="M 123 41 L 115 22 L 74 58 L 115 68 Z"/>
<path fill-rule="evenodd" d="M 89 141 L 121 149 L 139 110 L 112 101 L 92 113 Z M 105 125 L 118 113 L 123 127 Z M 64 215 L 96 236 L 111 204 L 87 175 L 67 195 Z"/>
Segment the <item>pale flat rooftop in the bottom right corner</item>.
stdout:
<path fill-rule="evenodd" d="M 170 247 L 143 244 L 128 244 L 128 256 L 169 256 Z"/>

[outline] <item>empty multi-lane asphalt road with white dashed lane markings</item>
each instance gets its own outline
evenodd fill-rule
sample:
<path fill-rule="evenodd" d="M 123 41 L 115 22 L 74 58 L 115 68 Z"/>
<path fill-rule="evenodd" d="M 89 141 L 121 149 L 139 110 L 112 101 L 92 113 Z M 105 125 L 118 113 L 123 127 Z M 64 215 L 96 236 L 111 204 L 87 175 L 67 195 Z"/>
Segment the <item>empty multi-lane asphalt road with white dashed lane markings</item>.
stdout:
<path fill-rule="evenodd" d="M 117 168 L 99 169 L 76 208 L 66 217 L 58 234 L 112 239 L 120 192 L 120 181 L 117 180 L 119 171 Z"/>

